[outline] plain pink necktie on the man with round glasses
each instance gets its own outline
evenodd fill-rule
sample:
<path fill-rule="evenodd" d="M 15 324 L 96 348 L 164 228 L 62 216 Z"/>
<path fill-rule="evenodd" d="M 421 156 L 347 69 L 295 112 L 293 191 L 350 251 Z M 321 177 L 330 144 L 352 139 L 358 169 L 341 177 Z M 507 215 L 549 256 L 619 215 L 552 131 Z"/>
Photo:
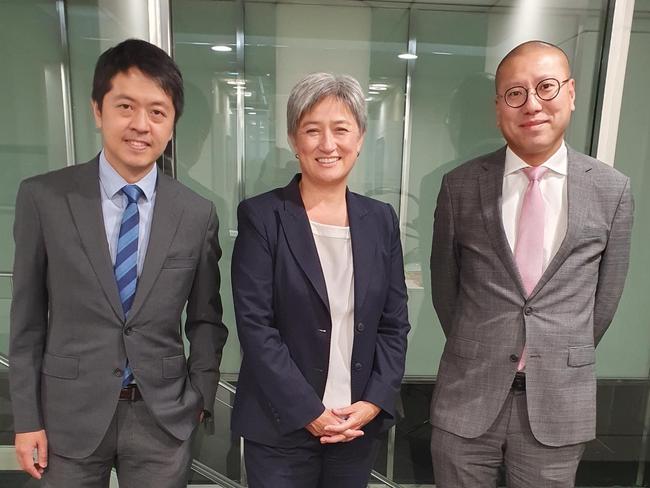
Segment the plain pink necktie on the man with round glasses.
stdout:
<path fill-rule="evenodd" d="M 544 271 L 544 199 L 539 189 L 539 181 L 547 169 L 543 166 L 524 168 L 528 187 L 517 226 L 515 262 L 527 295 L 531 294 Z M 526 346 L 521 353 L 517 370 L 521 371 L 525 366 Z"/>

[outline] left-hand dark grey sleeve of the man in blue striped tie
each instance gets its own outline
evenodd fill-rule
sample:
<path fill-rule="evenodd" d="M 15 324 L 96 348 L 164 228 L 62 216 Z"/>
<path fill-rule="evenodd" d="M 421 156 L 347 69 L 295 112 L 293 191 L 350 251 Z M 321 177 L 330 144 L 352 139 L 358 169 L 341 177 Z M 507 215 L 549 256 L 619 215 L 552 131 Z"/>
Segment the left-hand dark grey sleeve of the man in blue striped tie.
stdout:
<path fill-rule="evenodd" d="M 47 332 L 47 253 L 31 187 L 23 182 L 16 199 L 16 251 L 9 339 L 9 387 L 14 430 L 44 428 L 41 365 Z"/>

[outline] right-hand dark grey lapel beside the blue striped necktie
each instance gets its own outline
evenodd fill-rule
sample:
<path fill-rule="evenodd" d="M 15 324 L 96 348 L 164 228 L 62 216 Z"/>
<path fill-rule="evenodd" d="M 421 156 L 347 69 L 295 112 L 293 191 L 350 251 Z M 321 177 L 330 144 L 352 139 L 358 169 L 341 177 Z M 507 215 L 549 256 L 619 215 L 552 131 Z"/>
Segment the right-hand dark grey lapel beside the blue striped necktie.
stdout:
<path fill-rule="evenodd" d="M 184 210 L 183 206 L 179 205 L 177 198 L 178 188 L 173 185 L 173 181 L 169 177 L 158 170 L 156 203 L 151 220 L 147 254 L 142 273 L 138 278 L 135 298 L 129 312 L 129 321 L 137 315 L 142 307 L 167 258 L 169 246 L 176 234 Z"/>

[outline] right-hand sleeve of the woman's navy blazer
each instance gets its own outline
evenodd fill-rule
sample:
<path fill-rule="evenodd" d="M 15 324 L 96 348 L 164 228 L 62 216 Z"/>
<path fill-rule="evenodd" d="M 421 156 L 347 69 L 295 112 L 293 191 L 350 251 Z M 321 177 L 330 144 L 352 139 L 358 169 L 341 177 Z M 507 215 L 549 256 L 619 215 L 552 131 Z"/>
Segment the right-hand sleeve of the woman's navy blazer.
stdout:
<path fill-rule="evenodd" d="M 407 335 L 411 326 L 399 222 L 395 210 L 391 206 L 388 208 L 392 221 L 388 293 L 377 328 L 373 369 L 362 398 L 395 417 L 395 400 L 404 376 Z"/>

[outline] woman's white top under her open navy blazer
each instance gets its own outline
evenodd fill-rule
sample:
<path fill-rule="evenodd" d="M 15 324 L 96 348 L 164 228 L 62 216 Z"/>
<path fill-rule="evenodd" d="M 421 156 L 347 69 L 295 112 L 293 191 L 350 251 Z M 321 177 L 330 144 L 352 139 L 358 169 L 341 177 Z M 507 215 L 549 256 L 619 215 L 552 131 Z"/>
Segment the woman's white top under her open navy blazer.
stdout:
<path fill-rule="evenodd" d="M 347 407 L 352 401 L 352 346 L 354 343 L 354 271 L 350 228 L 312 222 L 332 318 L 330 361 L 323 405 Z"/>

